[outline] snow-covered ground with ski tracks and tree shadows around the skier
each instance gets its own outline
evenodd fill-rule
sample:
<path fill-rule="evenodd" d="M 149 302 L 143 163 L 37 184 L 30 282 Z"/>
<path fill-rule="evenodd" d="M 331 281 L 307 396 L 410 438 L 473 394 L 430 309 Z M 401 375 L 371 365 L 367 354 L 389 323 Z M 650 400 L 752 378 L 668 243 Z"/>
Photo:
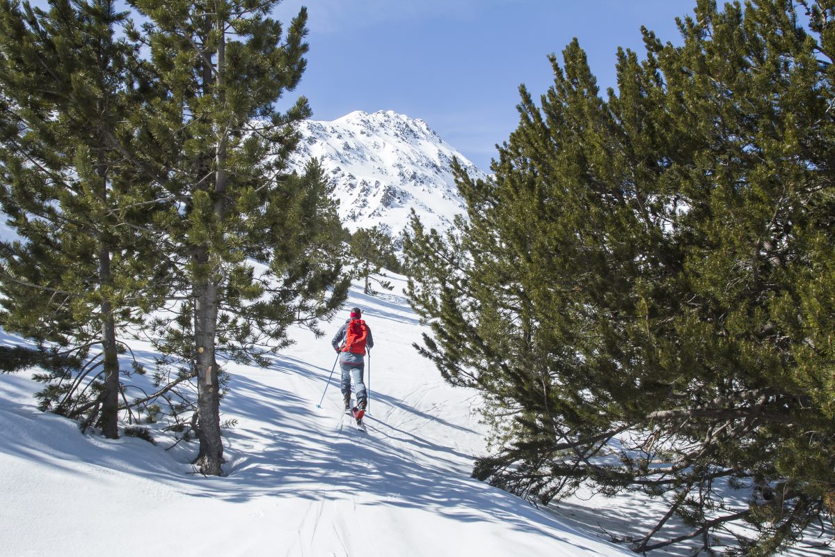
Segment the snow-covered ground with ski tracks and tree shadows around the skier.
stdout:
<path fill-rule="evenodd" d="M 0 555 L 630 554 L 594 526 L 469 477 L 484 450 L 478 396 L 443 382 L 412 342 L 422 327 L 397 289 L 352 288 L 376 346 L 367 433 L 341 412 L 329 336 L 294 333 L 269 368 L 225 364 L 222 478 L 195 474 L 197 443 L 82 435 L 38 412 L 27 372 L 0 375 Z M 0 342 L 16 342 L 0 336 Z M 142 342 L 134 353 L 149 360 Z"/>

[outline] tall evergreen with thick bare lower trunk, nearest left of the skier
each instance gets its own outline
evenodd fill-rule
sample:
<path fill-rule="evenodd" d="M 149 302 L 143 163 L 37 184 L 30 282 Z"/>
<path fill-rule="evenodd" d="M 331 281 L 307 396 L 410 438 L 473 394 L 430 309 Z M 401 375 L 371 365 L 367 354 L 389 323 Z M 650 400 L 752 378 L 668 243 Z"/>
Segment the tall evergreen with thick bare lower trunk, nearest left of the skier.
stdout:
<path fill-rule="evenodd" d="M 166 191 L 154 222 L 171 239 L 170 295 L 180 314 L 157 322 L 166 352 L 198 375 L 200 471 L 220 474 L 218 356 L 266 363 L 293 323 L 329 318 L 347 296 L 331 185 L 311 163 L 286 173 L 306 99 L 276 102 L 305 68 L 306 10 L 282 40 L 276 0 L 134 0 L 148 23 L 129 36 L 149 49 L 157 97 L 131 116 L 131 159 Z M 331 289 L 329 291 L 329 289 Z"/>

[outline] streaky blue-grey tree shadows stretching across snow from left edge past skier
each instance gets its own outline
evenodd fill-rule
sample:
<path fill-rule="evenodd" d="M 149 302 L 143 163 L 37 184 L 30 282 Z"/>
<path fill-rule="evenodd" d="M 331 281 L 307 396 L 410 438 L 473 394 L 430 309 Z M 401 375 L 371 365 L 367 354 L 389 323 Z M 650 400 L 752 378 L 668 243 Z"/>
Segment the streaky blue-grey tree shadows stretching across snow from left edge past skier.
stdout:
<path fill-rule="evenodd" d="M 135 438 L 78 435 L 76 423 L 9 403 L 0 405 L 4 411 L 0 417 L 5 416 L 0 421 L 22 432 L 32 432 L 34 422 L 44 431 L 7 438 L 3 447 L 39 465 L 78 473 L 73 462 L 89 463 L 153 480 L 182 494 L 233 503 L 262 497 L 340 500 L 365 494 L 369 504 L 424 509 L 461 523 L 509 524 L 519 532 L 555 539 L 560 532 L 575 531 L 522 499 L 455 473 L 470 458 L 467 454 L 392 427 L 373 415 L 367 419 L 368 433 L 360 433 L 332 399 L 325 409 L 316 411 L 316 401 L 291 390 L 295 385 L 299 392 L 317 392 L 324 388 L 330 370 L 292 357 L 276 358 L 273 363 L 271 369 L 256 371 L 255 377 L 257 373 L 286 374 L 292 377 L 289 388 L 259 382 L 253 373 L 232 375 L 230 392 L 221 403 L 221 420 L 236 418 L 241 423 L 223 433 L 227 459 L 223 478 L 188 473 L 185 455 L 196 455 L 195 442 L 181 443 L 180 452 L 171 454 Z M 304 382 L 313 382 L 309 386 L 313 388 L 299 389 L 305 387 Z M 338 392 L 336 383 L 330 388 Z M 453 430 L 468 431 L 397 398 L 374 396 L 375 404 L 385 403 Z M 41 439 L 52 439 L 58 447 Z"/>

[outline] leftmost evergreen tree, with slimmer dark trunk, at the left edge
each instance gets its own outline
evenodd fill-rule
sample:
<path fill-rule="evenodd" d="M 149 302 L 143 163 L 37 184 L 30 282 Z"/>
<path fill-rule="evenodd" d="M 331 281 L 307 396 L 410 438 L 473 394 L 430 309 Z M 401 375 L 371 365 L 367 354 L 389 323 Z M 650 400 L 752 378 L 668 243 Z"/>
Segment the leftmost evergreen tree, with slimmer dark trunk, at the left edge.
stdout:
<path fill-rule="evenodd" d="M 78 360 L 38 375 L 41 408 L 110 438 L 117 327 L 149 311 L 139 297 L 155 268 L 153 242 L 136 231 L 146 188 L 111 148 L 132 102 L 132 45 L 115 38 L 124 19 L 109 0 L 54 0 L 48 12 L 0 3 L 0 206 L 20 237 L 0 246 L 0 323 Z"/>

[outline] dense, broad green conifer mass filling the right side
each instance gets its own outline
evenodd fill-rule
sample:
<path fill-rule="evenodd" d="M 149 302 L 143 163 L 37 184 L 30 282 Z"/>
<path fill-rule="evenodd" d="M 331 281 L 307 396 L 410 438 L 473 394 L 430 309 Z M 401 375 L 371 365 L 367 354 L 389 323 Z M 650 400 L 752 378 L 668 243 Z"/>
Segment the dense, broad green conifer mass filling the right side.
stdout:
<path fill-rule="evenodd" d="M 474 476 L 661 498 L 638 552 L 767 555 L 832 519 L 833 18 L 700 0 L 605 97 L 574 41 L 539 106 L 520 89 L 493 179 L 455 167 L 468 220 L 413 219 L 417 348 L 494 427 Z"/>

